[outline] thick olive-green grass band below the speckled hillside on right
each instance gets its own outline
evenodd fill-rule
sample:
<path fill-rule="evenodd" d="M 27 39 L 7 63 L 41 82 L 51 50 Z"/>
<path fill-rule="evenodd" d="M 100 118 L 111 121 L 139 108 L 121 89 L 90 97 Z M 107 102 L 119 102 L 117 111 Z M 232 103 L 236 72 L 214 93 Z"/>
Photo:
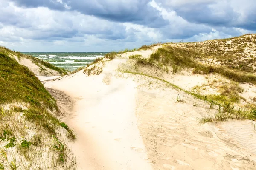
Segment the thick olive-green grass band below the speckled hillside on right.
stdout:
<path fill-rule="evenodd" d="M 247 82 L 256 84 L 256 75 L 244 71 L 236 71 L 230 68 L 217 65 L 204 65 L 195 59 L 203 54 L 186 48 L 176 48 L 165 46 L 150 55 L 150 59 L 154 59 L 163 65 L 179 66 L 181 68 L 194 68 L 194 73 L 209 74 L 218 73 L 235 82 Z"/>

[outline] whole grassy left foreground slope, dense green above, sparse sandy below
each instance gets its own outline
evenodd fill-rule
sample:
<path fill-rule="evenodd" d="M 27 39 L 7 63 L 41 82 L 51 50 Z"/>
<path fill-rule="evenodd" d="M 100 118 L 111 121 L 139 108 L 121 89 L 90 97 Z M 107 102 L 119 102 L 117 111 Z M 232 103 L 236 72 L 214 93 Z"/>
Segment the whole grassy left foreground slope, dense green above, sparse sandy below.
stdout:
<path fill-rule="evenodd" d="M 63 138 L 60 131 L 66 131 L 71 140 L 75 136 L 50 112 L 58 113 L 58 107 L 39 79 L 15 59 L 0 53 L 0 160 L 3 166 L 9 167 L 16 156 L 20 158 L 23 155 L 22 162 L 15 160 L 21 169 L 67 167 L 64 144 L 58 138 Z M 51 144 L 52 136 L 54 146 Z M 15 148 L 17 153 L 13 155 L 10 148 Z M 44 152 L 48 154 L 50 163 L 41 165 L 44 159 L 47 160 L 42 156 Z"/>

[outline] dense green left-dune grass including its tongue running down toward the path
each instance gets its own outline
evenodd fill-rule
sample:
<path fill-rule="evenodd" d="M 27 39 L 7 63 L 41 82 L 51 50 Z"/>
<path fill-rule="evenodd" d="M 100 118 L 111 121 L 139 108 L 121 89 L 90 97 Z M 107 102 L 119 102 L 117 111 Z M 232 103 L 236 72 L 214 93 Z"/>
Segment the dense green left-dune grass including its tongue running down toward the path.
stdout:
<path fill-rule="evenodd" d="M 23 112 L 29 121 L 44 127 L 51 134 L 55 134 L 53 126 L 62 125 L 47 111 L 49 109 L 58 112 L 58 107 L 55 99 L 35 74 L 14 59 L 0 53 L 0 105 L 13 102 L 29 104 L 26 110 L 17 107 L 14 110 Z M 73 132 L 70 130 L 70 133 Z"/>

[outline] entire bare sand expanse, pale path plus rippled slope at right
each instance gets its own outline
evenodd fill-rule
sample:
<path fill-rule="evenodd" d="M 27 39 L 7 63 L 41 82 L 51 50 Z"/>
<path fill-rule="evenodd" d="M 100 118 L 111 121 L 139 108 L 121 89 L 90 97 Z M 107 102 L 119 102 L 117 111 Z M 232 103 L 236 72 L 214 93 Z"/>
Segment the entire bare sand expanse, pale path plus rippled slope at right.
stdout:
<path fill-rule="evenodd" d="M 77 133 L 70 145 L 78 169 L 255 170 L 254 122 L 200 125 L 215 113 L 207 103 L 158 80 L 117 73 L 126 61 L 105 62 L 99 75 L 79 71 L 44 84 L 75 101 L 65 121 Z"/>

